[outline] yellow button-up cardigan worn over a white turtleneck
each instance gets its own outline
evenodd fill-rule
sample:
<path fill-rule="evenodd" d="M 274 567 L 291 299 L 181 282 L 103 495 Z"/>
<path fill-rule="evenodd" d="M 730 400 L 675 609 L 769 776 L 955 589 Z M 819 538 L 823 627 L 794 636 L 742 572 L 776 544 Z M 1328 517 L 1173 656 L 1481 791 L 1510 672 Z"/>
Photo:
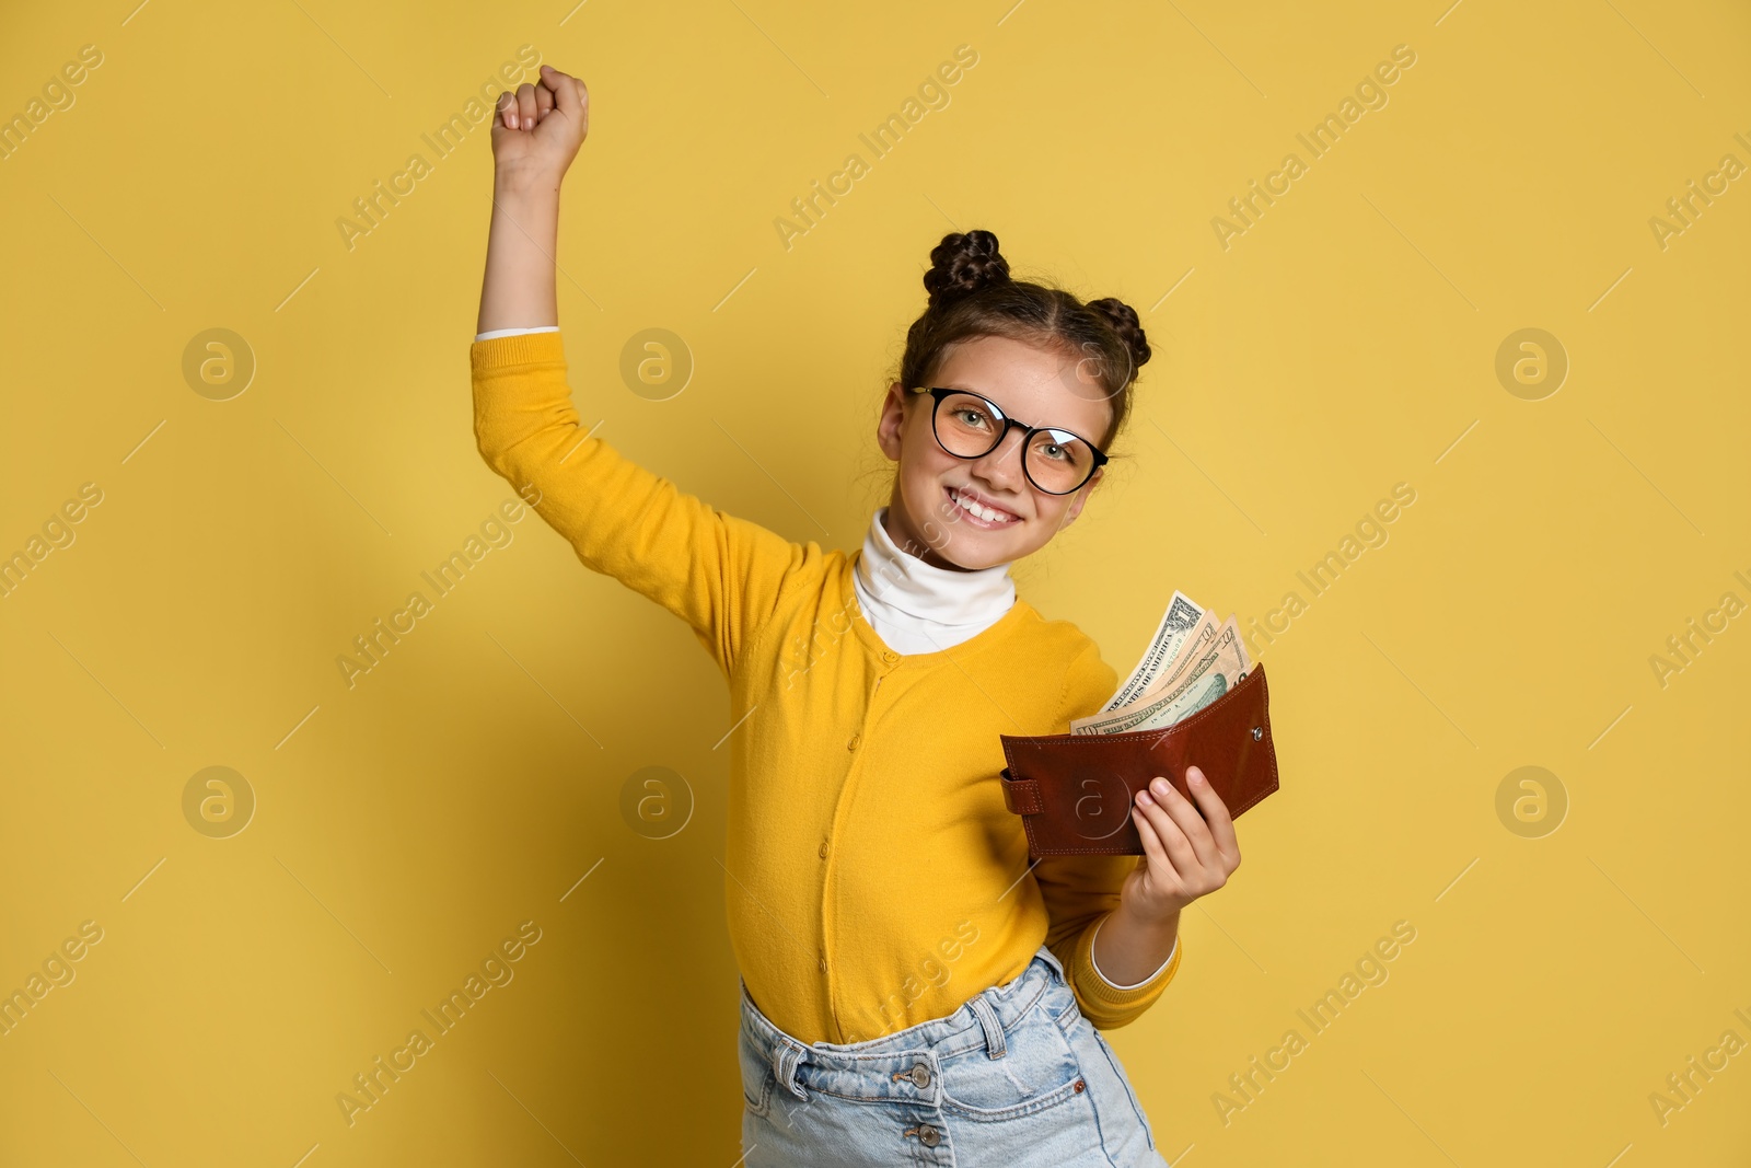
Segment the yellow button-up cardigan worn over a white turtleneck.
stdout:
<path fill-rule="evenodd" d="M 559 333 L 475 341 L 469 364 L 487 464 L 541 492 L 587 567 L 685 620 L 728 681 L 725 904 L 772 1023 L 865 1042 L 1010 981 L 1042 942 L 1098 1028 L 1161 996 L 1184 939 L 1135 989 L 1089 960 L 1138 858 L 1030 867 L 998 786 L 998 734 L 1063 734 L 1117 688 L 1094 641 L 1017 597 L 961 644 L 895 653 L 858 613 L 861 548 L 791 543 L 583 438 Z"/>

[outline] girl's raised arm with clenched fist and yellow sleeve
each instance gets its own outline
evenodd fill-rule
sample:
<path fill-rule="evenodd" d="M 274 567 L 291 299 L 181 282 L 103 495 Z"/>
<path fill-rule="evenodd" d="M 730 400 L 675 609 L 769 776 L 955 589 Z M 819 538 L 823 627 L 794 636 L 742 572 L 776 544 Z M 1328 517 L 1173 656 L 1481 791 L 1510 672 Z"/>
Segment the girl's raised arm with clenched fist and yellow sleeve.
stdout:
<path fill-rule="evenodd" d="M 506 93 L 492 123 L 494 200 L 480 333 L 469 348 L 475 441 L 594 571 L 692 625 L 728 676 L 783 583 L 819 548 L 707 506 L 578 426 L 566 383 L 553 250 L 559 191 L 588 130 L 583 84 L 543 65 L 541 86 Z"/>

